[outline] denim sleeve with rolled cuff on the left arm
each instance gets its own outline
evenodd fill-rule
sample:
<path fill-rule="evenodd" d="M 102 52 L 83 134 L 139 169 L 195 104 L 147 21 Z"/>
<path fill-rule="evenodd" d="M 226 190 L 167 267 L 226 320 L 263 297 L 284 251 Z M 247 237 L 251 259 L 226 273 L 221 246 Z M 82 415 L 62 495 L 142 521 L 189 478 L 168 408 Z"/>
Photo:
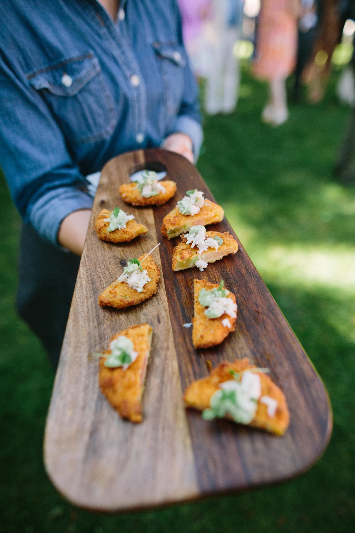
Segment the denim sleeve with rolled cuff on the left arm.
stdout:
<path fill-rule="evenodd" d="M 24 222 L 57 244 L 62 220 L 90 208 L 86 180 L 50 110 L 26 76 L 0 57 L 0 164 Z"/>

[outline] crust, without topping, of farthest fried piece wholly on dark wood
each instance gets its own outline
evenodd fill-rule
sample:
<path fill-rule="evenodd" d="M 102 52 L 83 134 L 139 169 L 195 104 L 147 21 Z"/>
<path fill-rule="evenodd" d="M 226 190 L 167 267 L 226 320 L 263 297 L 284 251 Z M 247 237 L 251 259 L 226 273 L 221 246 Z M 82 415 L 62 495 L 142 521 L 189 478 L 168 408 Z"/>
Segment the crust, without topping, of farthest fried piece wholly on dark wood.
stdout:
<path fill-rule="evenodd" d="M 187 233 L 192 226 L 207 226 L 208 224 L 221 222 L 224 214 L 220 205 L 214 204 L 213 201 L 207 198 L 205 198 L 203 206 L 196 215 L 181 215 L 179 208 L 176 206 L 164 216 L 161 232 L 167 239 L 172 239 L 181 235 L 181 233 Z"/>

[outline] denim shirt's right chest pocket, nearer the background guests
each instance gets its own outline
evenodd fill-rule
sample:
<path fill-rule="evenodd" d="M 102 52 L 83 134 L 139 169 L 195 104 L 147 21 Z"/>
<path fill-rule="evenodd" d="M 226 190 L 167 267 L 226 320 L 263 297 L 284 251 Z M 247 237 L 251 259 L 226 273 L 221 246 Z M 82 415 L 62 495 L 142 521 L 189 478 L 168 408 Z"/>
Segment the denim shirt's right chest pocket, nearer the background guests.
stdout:
<path fill-rule="evenodd" d="M 168 115 L 177 115 L 184 94 L 184 67 L 187 54 L 184 46 L 155 41 L 153 49 L 161 73 L 164 100 Z"/>

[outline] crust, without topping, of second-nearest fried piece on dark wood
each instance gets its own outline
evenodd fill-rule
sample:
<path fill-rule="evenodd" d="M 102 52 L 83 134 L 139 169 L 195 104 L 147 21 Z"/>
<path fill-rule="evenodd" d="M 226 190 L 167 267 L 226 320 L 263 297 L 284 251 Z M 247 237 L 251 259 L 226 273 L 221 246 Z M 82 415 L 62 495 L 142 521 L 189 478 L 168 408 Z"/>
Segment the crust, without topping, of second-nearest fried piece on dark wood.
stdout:
<path fill-rule="evenodd" d="M 202 288 L 211 290 L 213 287 L 218 287 L 216 283 L 209 283 L 204 279 L 194 279 L 194 318 L 192 319 L 192 342 L 196 349 L 209 348 L 220 344 L 228 337 L 230 332 L 235 330 L 236 318 L 230 318 L 229 314 L 222 314 L 219 318 L 207 318 L 204 314 L 205 308 L 199 302 L 199 294 Z M 235 303 L 235 296 L 229 293 L 227 298 L 230 298 Z M 222 320 L 228 318 L 230 328 L 222 325 Z"/>

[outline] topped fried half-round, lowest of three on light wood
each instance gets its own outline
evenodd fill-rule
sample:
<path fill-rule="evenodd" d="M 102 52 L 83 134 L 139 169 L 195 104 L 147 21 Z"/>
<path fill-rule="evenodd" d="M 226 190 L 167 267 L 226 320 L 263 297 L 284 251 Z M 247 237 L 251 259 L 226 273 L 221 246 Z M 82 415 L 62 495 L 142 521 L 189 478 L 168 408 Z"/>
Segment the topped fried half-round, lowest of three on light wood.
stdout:
<path fill-rule="evenodd" d="M 139 324 L 113 335 L 100 358 L 98 383 L 121 418 L 142 422 L 142 397 L 153 328 Z"/>

